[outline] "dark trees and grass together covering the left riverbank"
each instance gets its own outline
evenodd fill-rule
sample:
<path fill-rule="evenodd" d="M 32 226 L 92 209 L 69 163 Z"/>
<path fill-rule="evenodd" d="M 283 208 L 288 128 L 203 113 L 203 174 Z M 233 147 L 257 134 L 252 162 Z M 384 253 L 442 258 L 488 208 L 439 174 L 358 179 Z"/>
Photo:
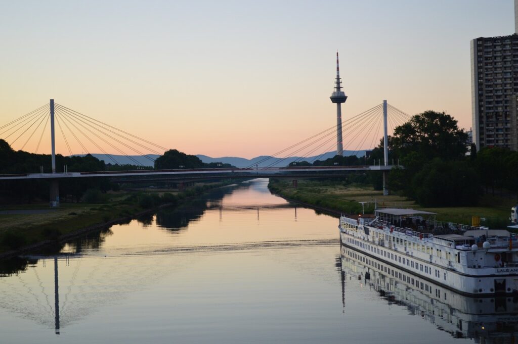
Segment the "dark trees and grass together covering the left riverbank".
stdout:
<path fill-rule="evenodd" d="M 56 155 L 56 170 L 67 172 L 121 171 L 153 169 L 137 165 L 105 163 L 94 156 Z M 215 168 L 228 164 L 206 164 L 193 155 L 176 149 L 155 161 L 155 168 Z M 51 171 L 51 157 L 14 151 L 0 139 L 0 174 L 42 173 Z M 0 182 L 0 253 L 55 241 L 63 235 L 113 221 L 127 221 L 133 216 L 167 205 L 176 205 L 204 191 L 226 185 L 226 182 L 182 183 L 157 182 L 135 184 L 112 183 L 105 177 L 62 179 L 59 182 L 60 207 L 49 208 L 48 180 Z M 181 190 L 179 189 L 181 188 Z"/>

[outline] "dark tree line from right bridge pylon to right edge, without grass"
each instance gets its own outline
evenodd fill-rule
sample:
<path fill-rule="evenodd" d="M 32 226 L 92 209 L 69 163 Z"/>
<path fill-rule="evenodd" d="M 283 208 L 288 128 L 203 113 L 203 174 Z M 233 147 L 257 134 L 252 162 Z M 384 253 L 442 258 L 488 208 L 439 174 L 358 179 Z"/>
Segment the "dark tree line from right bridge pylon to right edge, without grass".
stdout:
<path fill-rule="evenodd" d="M 389 189 L 423 206 L 471 206 L 495 188 L 518 192 L 518 152 L 484 147 L 468 153 L 467 133 L 444 112 L 425 111 L 394 129 L 389 159 L 404 169 L 389 173 Z M 383 141 L 371 159 L 383 159 Z"/>

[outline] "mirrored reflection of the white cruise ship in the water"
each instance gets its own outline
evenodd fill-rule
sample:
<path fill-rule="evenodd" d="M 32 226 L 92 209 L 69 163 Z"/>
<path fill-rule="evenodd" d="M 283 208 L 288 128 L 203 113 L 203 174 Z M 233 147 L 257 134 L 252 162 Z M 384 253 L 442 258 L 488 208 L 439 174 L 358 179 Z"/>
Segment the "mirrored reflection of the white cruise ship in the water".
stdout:
<path fill-rule="evenodd" d="M 346 279 L 365 283 L 389 304 L 435 324 L 455 338 L 480 343 L 514 343 L 518 332 L 518 297 L 468 297 L 419 276 L 341 247 L 340 274 L 345 309 Z"/>

